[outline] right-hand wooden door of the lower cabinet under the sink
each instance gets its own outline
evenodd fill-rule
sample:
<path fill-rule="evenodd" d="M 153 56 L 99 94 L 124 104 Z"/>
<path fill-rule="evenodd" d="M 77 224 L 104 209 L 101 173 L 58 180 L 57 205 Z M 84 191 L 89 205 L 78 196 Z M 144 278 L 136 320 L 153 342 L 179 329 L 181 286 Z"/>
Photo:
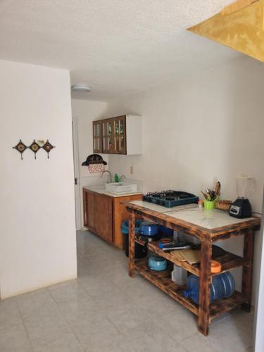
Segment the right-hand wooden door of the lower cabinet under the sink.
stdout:
<path fill-rule="evenodd" d="M 113 242 L 112 199 L 103 194 L 96 195 L 96 234 L 106 241 Z"/>

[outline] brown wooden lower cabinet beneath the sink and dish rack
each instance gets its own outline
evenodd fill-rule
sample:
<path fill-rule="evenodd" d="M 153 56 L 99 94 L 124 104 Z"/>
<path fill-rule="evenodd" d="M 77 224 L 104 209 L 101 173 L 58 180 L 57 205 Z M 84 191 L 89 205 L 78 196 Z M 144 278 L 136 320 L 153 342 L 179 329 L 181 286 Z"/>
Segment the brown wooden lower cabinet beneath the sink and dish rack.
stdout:
<path fill-rule="evenodd" d="M 142 199 L 142 194 L 132 196 L 108 196 L 83 189 L 84 226 L 122 249 L 122 221 L 128 220 L 128 213 L 122 202 Z"/>

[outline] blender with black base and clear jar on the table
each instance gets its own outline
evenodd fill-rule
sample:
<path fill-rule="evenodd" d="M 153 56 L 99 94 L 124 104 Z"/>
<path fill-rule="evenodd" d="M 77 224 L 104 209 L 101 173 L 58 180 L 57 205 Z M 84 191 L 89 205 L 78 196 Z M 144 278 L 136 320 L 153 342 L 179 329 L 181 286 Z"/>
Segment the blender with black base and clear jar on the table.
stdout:
<path fill-rule="evenodd" d="M 234 218 L 250 218 L 252 214 L 251 203 L 246 195 L 251 187 L 252 177 L 248 175 L 238 175 L 237 182 L 237 196 L 238 198 L 232 203 L 230 207 L 230 215 Z"/>

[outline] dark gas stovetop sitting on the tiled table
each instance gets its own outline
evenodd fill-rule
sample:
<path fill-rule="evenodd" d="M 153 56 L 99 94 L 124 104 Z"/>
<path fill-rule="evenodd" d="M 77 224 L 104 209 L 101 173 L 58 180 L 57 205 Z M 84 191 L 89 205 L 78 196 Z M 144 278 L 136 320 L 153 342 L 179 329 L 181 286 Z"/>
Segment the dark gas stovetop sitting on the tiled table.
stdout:
<path fill-rule="evenodd" d="M 172 206 L 182 206 L 183 204 L 197 203 L 199 198 L 191 193 L 169 190 L 161 192 L 149 192 L 143 196 L 143 201 L 149 201 L 149 203 L 171 208 Z"/>

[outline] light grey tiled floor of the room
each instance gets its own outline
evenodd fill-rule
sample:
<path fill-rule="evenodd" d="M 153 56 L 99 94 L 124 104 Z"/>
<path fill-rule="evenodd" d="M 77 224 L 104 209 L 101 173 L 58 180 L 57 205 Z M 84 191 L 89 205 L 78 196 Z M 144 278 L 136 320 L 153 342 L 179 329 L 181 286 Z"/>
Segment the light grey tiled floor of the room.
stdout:
<path fill-rule="evenodd" d="M 77 233 L 77 280 L 0 302 L 1 352 L 251 351 L 253 313 L 235 311 L 196 329 L 194 315 L 89 232 Z"/>

